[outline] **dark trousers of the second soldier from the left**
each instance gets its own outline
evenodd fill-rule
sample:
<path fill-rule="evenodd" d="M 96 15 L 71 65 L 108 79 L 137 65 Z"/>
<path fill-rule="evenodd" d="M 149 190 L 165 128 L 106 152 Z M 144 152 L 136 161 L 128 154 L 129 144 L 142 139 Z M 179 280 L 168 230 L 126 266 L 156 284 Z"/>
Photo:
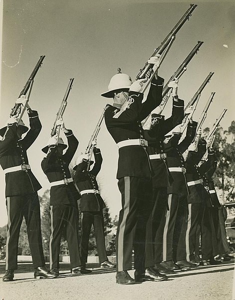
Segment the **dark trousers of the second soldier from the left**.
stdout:
<path fill-rule="evenodd" d="M 50 205 L 50 269 L 59 268 L 62 229 L 65 225 L 71 267 L 81 265 L 79 252 L 78 209 L 74 205 Z"/>

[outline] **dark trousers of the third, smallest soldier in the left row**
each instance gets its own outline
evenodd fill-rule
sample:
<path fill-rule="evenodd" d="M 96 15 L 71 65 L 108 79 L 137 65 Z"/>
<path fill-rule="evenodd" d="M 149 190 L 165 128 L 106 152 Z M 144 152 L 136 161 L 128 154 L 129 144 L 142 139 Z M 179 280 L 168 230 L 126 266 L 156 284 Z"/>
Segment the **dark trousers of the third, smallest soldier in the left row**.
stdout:
<path fill-rule="evenodd" d="M 108 259 L 104 239 L 103 211 L 85 211 L 81 215 L 81 262 L 83 265 L 87 262 L 89 236 L 93 224 L 99 262 L 102 263 Z"/>

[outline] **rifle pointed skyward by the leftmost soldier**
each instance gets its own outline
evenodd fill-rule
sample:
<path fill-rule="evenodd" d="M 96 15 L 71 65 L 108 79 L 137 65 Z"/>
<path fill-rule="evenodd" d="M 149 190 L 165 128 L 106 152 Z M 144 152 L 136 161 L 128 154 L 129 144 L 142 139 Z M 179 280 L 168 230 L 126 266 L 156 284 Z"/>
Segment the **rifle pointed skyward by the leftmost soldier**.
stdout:
<path fill-rule="evenodd" d="M 33 85 L 33 80 L 34 80 L 34 77 L 39 69 L 39 67 L 41 66 L 42 64 L 42 61 L 43 59 L 45 58 L 45 55 L 41 55 L 39 60 L 37 61 L 37 64 L 35 65 L 31 75 L 29 76 L 27 82 L 25 83 L 23 89 L 21 90 L 20 94 L 19 94 L 19 97 L 21 95 L 26 95 L 28 89 L 29 89 L 29 93 L 28 93 L 28 96 L 27 96 L 27 101 L 25 103 L 25 105 L 23 106 L 23 108 L 21 109 L 21 104 L 18 104 L 18 103 L 15 103 L 14 104 L 14 107 L 11 108 L 11 112 L 10 112 L 10 116 L 16 116 L 18 117 L 18 121 L 17 121 L 17 124 L 19 123 L 20 119 L 22 118 L 23 116 L 23 113 L 25 111 L 25 108 L 26 106 L 28 106 L 27 102 L 29 100 L 29 96 L 30 96 L 30 93 L 31 93 L 31 90 L 32 90 L 32 85 Z M 30 107 L 28 106 L 28 108 L 30 109 Z"/>

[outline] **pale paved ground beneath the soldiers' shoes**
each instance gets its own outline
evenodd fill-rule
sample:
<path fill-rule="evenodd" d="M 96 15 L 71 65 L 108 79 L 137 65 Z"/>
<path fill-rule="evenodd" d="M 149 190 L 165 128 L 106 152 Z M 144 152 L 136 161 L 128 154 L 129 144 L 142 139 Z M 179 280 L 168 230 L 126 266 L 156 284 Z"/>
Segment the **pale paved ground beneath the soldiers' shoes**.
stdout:
<path fill-rule="evenodd" d="M 115 271 L 88 264 L 92 273 L 71 275 L 69 264 L 60 264 L 56 279 L 34 279 L 30 263 L 19 263 L 15 280 L 2 282 L 0 299 L 4 300 L 235 300 L 232 296 L 234 261 L 219 266 L 203 266 L 179 271 L 167 281 L 134 285 L 115 283 Z M 0 263 L 0 277 L 4 264 Z M 130 271 L 133 275 L 134 271 Z"/>

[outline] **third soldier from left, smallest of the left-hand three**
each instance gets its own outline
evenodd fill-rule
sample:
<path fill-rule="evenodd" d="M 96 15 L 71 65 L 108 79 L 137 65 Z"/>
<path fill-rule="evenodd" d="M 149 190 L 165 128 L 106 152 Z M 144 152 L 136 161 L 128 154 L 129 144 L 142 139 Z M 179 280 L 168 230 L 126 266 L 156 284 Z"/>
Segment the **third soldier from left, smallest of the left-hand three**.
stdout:
<path fill-rule="evenodd" d="M 100 149 L 96 148 L 96 141 L 93 141 L 95 164 L 90 170 L 93 161 L 89 161 L 88 154 L 77 158 L 77 163 L 73 167 L 76 170 L 74 181 L 81 193 L 80 211 L 81 211 L 81 262 L 85 266 L 88 255 L 88 243 L 91 225 L 95 230 L 95 239 L 97 252 L 101 267 L 115 267 L 107 257 L 104 238 L 104 216 L 103 208 L 105 203 L 100 195 L 96 176 L 101 169 L 103 161 Z M 89 165 L 89 166 L 88 166 Z"/>

